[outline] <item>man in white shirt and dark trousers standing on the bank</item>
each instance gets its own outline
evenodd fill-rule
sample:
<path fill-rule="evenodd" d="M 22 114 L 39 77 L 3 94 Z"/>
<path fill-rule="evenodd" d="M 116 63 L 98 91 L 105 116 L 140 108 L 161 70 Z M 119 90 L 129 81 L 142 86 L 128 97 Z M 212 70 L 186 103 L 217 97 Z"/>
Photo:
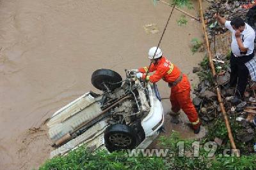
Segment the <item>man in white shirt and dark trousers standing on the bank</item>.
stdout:
<path fill-rule="evenodd" d="M 232 32 L 231 58 L 230 58 L 230 87 L 236 87 L 236 96 L 233 103 L 239 103 L 244 96 L 248 83 L 249 71 L 245 63 L 254 56 L 255 31 L 244 22 L 242 18 L 233 18 L 231 21 L 215 14 L 214 18 Z"/>

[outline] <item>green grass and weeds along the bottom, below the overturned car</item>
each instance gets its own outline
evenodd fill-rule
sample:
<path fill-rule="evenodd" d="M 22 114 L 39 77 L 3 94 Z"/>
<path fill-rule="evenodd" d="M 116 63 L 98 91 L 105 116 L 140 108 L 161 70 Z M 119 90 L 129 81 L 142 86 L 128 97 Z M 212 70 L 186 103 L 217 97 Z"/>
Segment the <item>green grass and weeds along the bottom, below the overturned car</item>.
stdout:
<path fill-rule="evenodd" d="M 220 124 L 221 127 L 223 124 Z M 220 137 L 226 134 L 223 128 Z M 216 132 L 218 132 L 216 131 Z M 227 137 L 227 136 L 225 136 Z M 184 143 L 185 153 L 193 152 L 193 139 L 181 139 L 178 132 L 172 132 L 168 138 L 159 138 L 161 148 L 168 148 L 173 153 L 179 153 L 178 144 Z M 66 156 L 54 157 L 47 160 L 40 170 L 62 170 L 62 169 L 255 169 L 256 155 L 244 155 L 241 157 L 222 157 L 216 154 L 214 157 L 207 157 L 210 150 L 203 147 L 200 143 L 200 155 L 198 157 L 129 157 L 126 152 L 108 153 L 106 150 L 96 150 L 90 152 L 86 146 L 80 146 L 71 151 Z"/>

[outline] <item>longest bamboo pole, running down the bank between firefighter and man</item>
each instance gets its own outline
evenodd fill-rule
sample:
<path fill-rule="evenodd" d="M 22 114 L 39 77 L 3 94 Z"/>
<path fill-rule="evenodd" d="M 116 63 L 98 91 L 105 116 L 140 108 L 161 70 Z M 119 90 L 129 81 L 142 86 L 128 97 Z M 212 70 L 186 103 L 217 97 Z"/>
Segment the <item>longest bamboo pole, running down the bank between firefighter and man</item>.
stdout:
<path fill-rule="evenodd" d="M 205 41 L 206 41 L 206 45 L 207 45 L 209 64 L 210 64 L 210 67 L 211 67 L 212 76 L 215 78 L 216 77 L 216 71 L 215 71 L 215 67 L 214 67 L 213 61 L 212 61 L 212 55 L 211 55 L 211 49 L 210 49 L 210 45 L 209 45 L 209 39 L 208 39 L 208 36 L 207 36 L 206 26 L 205 26 L 205 23 L 204 23 L 204 14 L 203 14 L 203 11 L 202 11 L 202 0 L 198 0 L 198 3 L 199 3 L 202 27 L 203 27 L 203 30 L 204 30 Z M 230 140 L 231 147 L 232 147 L 234 153 L 236 153 L 236 155 L 239 156 L 240 153 L 238 152 L 238 150 L 236 148 L 236 143 L 234 142 L 233 134 L 232 134 L 232 131 L 231 131 L 231 128 L 230 128 L 230 124 L 228 122 L 227 113 L 225 111 L 224 104 L 223 104 L 222 99 L 221 99 L 220 89 L 217 87 L 216 91 L 217 91 L 217 96 L 218 96 L 218 101 L 219 101 L 220 109 L 221 109 L 221 112 L 223 114 L 223 118 L 225 120 L 225 125 L 226 125 L 226 128 L 227 128 L 228 138 Z"/>

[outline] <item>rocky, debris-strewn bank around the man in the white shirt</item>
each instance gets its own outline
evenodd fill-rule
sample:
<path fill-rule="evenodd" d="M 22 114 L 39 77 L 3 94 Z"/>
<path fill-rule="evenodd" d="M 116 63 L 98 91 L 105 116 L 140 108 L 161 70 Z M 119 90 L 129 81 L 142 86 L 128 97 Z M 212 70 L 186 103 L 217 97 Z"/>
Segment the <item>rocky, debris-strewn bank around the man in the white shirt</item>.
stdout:
<path fill-rule="evenodd" d="M 228 87 L 231 34 L 225 27 L 216 24 L 213 15 L 218 11 L 228 20 L 233 17 L 246 19 L 248 9 L 244 8 L 244 5 L 247 3 L 248 1 L 211 1 L 209 9 L 205 11 L 204 22 L 208 26 L 207 34 L 217 76 L 215 80 L 212 79 L 207 56 L 200 63 L 200 67 L 193 69 L 193 73 L 197 73 L 201 80 L 198 87 L 194 89 L 196 97 L 193 98 L 193 104 L 203 124 L 208 127 L 207 138 L 218 141 L 223 148 L 230 146 L 216 95 L 215 82 L 221 89 L 221 97 L 230 120 L 232 134 L 241 153 L 256 152 L 253 150 L 253 145 L 256 143 L 256 128 L 252 125 L 252 120 L 256 115 L 256 84 L 249 81 L 243 102 L 231 103 L 236 92 L 236 88 Z"/>

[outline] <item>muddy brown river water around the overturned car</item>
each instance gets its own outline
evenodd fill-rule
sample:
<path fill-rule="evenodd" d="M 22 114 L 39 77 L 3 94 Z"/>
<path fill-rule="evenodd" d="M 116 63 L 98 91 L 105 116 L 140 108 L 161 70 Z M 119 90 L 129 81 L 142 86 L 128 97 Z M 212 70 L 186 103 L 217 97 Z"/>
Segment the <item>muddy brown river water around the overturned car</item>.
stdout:
<path fill-rule="evenodd" d="M 147 66 L 170 10 L 151 0 L 0 0 L 0 169 L 32 169 L 49 157 L 45 120 L 84 92 L 99 92 L 90 82 L 95 69 L 124 76 L 125 68 Z M 191 39 L 202 39 L 202 28 L 189 17 L 180 27 L 180 15 L 173 12 L 161 48 L 193 85 L 204 53 L 192 55 Z M 147 24 L 160 32 L 145 32 Z M 168 97 L 166 83 L 158 84 Z"/>

